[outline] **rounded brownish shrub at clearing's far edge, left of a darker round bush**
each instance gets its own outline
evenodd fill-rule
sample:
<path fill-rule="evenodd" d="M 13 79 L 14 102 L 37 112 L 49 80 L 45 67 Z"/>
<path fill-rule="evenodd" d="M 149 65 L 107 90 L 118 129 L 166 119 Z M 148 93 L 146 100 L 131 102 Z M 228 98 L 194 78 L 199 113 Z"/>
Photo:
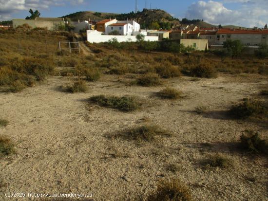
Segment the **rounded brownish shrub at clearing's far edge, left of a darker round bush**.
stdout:
<path fill-rule="evenodd" d="M 170 62 L 161 63 L 155 67 L 156 73 L 162 78 L 179 77 L 181 75 L 179 69 L 172 66 Z"/>

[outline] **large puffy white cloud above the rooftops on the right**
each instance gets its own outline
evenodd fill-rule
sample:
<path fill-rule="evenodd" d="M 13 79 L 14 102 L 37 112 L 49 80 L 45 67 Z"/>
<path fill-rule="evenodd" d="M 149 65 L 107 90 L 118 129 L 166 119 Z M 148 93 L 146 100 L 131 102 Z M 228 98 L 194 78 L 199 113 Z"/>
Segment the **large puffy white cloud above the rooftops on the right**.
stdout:
<path fill-rule="evenodd" d="M 199 18 L 212 24 L 234 24 L 246 27 L 263 27 L 268 18 L 268 5 L 261 3 L 267 0 L 224 0 L 203 1 L 192 3 L 186 13 L 186 18 Z M 225 7 L 225 3 L 242 3 L 237 10 Z M 260 4 L 261 3 L 261 4 Z"/>

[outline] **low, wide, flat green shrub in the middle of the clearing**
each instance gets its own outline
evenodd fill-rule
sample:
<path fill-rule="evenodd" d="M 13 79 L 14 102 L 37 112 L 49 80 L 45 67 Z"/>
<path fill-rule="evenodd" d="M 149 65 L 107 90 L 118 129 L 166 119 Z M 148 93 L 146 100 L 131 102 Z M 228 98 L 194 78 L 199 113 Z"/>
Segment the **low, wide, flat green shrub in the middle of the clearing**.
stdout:
<path fill-rule="evenodd" d="M 90 98 L 91 101 L 105 107 L 112 107 L 122 111 L 133 111 L 140 108 L 141 104 L 134 97 L 98 95 Z"/>

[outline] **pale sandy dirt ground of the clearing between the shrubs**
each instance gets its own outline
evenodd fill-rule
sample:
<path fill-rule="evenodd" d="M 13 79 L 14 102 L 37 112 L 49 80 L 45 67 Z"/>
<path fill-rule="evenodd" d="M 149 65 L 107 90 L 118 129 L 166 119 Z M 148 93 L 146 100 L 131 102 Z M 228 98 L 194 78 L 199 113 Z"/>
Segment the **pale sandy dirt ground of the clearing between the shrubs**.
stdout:
<path fill-rule="evenodd" d="M 139 201 L 159 179 L 179 178 L 196 201 L 268 201 L 267 159 L 251 157 L 237 146 L 245 129 L 267 137 L 267 125 L 226 115 L 232 104 L 268 86 L 267 77 L 180 77 L 150 88 L 129 86 L 130 80 L 130 75 L 103 75 L 88 82 L 87 93 L 72 94 L 61 88 L 71 79 L 56 76 L 19 93 L 0 93 L 1 116 L 10 122 L 0 133 L 16 144 L 16 154 L 0 161 L 0 200 L 38 200 L 10 199 L 6 192 L 72 192 L 92 193 L 94 201 Z M 183 91 L 185 97 L 156 97 L 165 86 Z M 99 94 L 134 95 L 146 104 L 127 113 L 87 102 Z M 195 113 L 197 106 L 207 106 L 208 112 Z M 169 129 L 172 137 L 141 145 L 109 138 L 144 124 L 144 119 Z M 234 167 L 204 167 L 202 161 L 215 153 L 230 158 Z M 177 164 L 178 171 L 170 171 L 169 164 Z"/>

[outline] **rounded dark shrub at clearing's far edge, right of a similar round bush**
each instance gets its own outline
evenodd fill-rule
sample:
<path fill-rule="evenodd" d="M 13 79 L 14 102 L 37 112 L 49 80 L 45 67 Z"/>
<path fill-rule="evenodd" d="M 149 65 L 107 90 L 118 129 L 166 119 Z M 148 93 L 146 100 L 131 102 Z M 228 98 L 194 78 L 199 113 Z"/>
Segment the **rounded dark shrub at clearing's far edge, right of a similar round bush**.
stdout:
<path fill-rule="evenodd" d="M 217 77 L 217 73 L 215 70 L 206 64 L 199 64 L 196 67 L 190 69 L 191 76 L 194 77 L 205 77 L 205 78 L 215 78 Z"/>

